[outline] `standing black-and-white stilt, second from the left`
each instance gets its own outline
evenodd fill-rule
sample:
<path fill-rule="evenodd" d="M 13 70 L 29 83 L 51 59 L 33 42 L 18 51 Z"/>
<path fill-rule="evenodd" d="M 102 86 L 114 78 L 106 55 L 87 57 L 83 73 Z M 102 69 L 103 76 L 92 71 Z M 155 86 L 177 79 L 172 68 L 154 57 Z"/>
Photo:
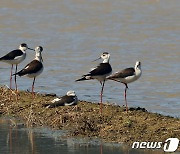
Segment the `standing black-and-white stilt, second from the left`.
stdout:
<path fill-rule="evenodd" d="M 27 76 L 29 78 L 33 78 L 33 84 L 32 84 L 32 95 L 34 97 L 34 83 L 36 80 L 36 77 L 39 76 L 44 67 L 43 67 L 43 59 L 42 59 L 42 51 L 43 48 L 41 46 L 38 46 L 35 48 L 35 59 L 31 61 L 29 64 L 27 64 L 21 71 L 17 72 L 13 75 L 19 75 L 19 76 Z"/>

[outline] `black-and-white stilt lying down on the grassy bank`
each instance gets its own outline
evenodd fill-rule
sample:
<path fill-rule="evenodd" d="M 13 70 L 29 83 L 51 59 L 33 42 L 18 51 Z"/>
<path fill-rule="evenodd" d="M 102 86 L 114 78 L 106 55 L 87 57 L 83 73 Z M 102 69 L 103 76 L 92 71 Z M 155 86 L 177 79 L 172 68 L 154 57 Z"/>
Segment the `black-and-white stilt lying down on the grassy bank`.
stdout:
<path fill-rule="evenodd" d="M 58 106 L 73 106 L 77 105 L 78 98 L 76 93 L 72 90 L 68 91 L 65 96 L 57 97 L 51 101 L 49 104 L 44 104 L 43 106 L 46 108 L 55 108 Z"/>

